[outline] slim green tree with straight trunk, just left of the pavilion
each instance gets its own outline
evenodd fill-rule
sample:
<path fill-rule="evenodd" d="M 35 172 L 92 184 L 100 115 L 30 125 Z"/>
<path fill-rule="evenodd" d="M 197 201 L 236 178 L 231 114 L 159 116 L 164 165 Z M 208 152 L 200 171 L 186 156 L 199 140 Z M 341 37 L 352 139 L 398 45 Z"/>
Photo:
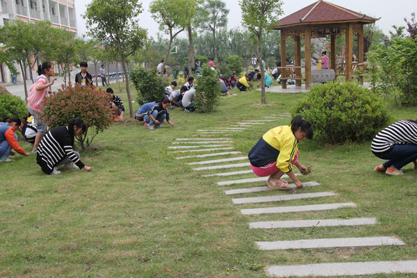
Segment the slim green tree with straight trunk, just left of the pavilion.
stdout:
<path fill-rule="evenodd" d="M 240 0 L 243 25 L 258 38 L 258 60 L 262 61 L 262 35 L 268 33 L 282 14 L 281 0 Z M 265 70 L 261 66 L 261 102 L 265 104 Z"/>

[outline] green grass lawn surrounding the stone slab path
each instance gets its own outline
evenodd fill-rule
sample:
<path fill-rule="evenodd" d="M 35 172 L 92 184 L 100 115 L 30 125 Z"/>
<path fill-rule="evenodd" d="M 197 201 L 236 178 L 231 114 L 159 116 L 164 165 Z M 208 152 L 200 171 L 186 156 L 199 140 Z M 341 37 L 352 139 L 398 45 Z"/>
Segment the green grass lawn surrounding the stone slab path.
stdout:
<path fill-rule="evenodd" d="M 128 108 L 124 90 L 119 92 L 116 84 L 112 87 Z M 176 138 L 199 136 L 197 129 L 289 112 L 306 95 L 267 93 L 268 104 L 261 105 L 259 91 L 232 93 L 238 95 L 223 97 L 215 113 L 170 111 L 173 128 L 163 124 L 166 128 L 148 131 L 136 120 L 113 124 L 97 136 L 94 151 L 81 154 L 93 172 L 67 170 L 47 176 L 35 156 L 17 155 L 15 162 L 2 163 L 0 277 L 265 277 L 263 265 L 417 259 L 417 170 L 411 164 L 400 177 L 373 172 L 382 161 L 370 152 L 370 142 L 322 147 L 314 140 L 303 141 L 300 161 L 312 165 L 313 172 L 300 180 L 318 181 L 321 186 L 274 194 L 332 191 L 337 195 L 278 203 L 234 205 L 231 199 L 235 197 L 271 193 L 228 196 L 224 190 L 265 183 L 217 186 L 217 181 L 254 175 L 202 177 L 240 169 L 202 172 L 186 165 L 218 157 L 176 160 L 175 156 L 189 155 L 167 148 Z M 136 99 L 136 92 L 132 97 Z M 417 117 L 416 108 L 392 105 L 390 109 L 393 122 Z M 245 156 L 268 129 L 289 121 L 259 124 L 227 137 L 233 138 L 234 149 Z M 26 151 L 31 149 L 24 140 L 20 143 Z M 314 213 L 240 213 L 241 208 L 334 202 L 354 202 L 357 207 Z M 250 229 L 248 224 L 357 217 L 375 217 L 379 224 L 268 230 Z M 407 245 L 260 251 L 254 243 L 357 236 L 398 236 Z"/>

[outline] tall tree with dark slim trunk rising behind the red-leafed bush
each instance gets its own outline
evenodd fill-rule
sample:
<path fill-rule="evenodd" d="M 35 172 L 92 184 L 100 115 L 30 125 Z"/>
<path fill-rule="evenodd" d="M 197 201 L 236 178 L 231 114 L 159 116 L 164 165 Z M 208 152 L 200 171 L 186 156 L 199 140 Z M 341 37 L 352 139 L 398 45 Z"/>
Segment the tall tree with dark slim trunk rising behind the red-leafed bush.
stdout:
<path fill-rule="evenodd" d="M 120 57 L 126 80 L 129 112 L 134 117 L 126 59 L 147 41 L 147 31 L 138 25 L 142 4 L 136 0 L 93 0 L 83 17 L 91 26 L 88 35 Z"/>

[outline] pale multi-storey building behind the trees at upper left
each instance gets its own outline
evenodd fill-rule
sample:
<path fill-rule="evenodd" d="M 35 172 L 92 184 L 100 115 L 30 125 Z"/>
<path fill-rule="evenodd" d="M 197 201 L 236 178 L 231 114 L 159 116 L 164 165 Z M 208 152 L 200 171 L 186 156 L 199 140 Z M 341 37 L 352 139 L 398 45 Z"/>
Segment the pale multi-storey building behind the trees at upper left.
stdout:
<path fill-rule="evenodd" d="M 0 0 L 0 26 L 20 19 L 26 22 L 49 20 L 52 26 L 74 33 L 77 38 L 75 0 Z M 18 68 L 18 67 L 17 67 Z M 22 81 L 22 74 L 17 80 Z M 10 72 L 0 65 L 0 82 L 11 82 Z"/>

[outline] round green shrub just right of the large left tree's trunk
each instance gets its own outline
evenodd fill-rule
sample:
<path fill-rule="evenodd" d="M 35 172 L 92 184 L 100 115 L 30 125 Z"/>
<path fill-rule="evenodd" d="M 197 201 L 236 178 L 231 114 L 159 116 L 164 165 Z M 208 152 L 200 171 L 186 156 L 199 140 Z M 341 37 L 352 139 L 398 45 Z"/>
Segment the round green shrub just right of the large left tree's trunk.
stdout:
<path fill-rule="evenodd" d="M 161 100 L 165 96 L 165 87 L 168 85 L 156 70 L 146 71 L 143 67 L 136 67 L 130 72 L 131 81 L 138 91 L 138 104 Z"/>

